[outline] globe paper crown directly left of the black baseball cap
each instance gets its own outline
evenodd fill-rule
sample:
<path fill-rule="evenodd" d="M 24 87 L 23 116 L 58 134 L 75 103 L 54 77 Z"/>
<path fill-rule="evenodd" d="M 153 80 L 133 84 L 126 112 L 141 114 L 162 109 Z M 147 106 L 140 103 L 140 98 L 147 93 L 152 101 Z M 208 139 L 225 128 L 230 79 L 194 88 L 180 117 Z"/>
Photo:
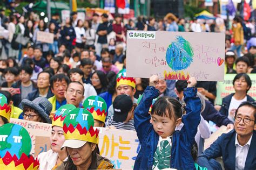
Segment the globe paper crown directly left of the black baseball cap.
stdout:
<path fill-rule="evenodd" d="M 87 97 L 83 103 L 84 109 L 87 109 L 92 114 L 93 118 L 105 123 L 107 115 L 107 105 L 105 100 L 99 96 Z"/>

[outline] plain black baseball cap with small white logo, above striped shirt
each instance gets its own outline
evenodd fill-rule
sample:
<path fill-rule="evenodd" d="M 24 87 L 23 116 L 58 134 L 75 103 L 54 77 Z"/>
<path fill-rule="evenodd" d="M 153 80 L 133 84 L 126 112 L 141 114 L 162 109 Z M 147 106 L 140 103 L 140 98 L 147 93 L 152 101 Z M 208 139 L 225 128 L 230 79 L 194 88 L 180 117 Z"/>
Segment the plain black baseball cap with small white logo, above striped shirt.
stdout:
<path fill-rule="evenodd" d="M 114 116 L 113 121 L 124 122 L 127 118 L 129 111 L 132 108 L 132 99 L 128 95 L 119 95 L 114 99 L 113 109 Z"/>

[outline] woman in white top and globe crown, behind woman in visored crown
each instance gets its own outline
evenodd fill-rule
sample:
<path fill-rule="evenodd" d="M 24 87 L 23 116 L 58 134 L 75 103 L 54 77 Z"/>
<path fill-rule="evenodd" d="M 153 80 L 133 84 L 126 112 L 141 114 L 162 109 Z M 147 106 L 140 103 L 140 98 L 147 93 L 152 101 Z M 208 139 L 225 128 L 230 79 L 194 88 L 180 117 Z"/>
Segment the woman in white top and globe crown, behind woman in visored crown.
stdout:
<path fill-rule="evenodd" d="M 38 155 L 39 169 L 56 169 L 64 160 L 68 159 L 66 150 L 60 150 L 65 141 L 63 121 L 65 116 L 75 108 L 75 105 L 65 104 L 53 116 L 50 136 L 51 150 Z"/>

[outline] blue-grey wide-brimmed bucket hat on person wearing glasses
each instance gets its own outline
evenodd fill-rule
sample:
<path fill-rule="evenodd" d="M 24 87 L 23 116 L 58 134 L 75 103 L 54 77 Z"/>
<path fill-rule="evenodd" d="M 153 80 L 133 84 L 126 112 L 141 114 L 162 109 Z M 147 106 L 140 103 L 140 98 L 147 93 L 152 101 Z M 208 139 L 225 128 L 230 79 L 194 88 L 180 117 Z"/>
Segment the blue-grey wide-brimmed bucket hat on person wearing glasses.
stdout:
<path fill-rule="evenodd" d="M 30 108 L 35 109 L 38 114 L 45 119 L 47 123 L 51 123 L 49 115 L 52 110 L 52 105 L 47 98 L 37 97 L 32 102 L 27 99 L 23 99 L 21 104 L 22 108 L 24 108 L 24 105 L 28 105 Z"/>

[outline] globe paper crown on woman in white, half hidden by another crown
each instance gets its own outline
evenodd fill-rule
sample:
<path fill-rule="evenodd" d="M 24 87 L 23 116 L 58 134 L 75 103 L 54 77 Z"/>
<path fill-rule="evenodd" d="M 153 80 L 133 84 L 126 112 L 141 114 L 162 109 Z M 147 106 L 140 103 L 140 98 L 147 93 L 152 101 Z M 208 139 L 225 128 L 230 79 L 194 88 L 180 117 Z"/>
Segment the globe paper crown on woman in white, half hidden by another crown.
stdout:
<path fill-rule="evenodd" d="M 63 121 L 66 115 L 68 115 L 68 113 L 73 109 L 76 109 L 75 105 L 73 104 L 62 105 L 53 116 L 52 126 L 59 126 L 63 128 Z"/>

